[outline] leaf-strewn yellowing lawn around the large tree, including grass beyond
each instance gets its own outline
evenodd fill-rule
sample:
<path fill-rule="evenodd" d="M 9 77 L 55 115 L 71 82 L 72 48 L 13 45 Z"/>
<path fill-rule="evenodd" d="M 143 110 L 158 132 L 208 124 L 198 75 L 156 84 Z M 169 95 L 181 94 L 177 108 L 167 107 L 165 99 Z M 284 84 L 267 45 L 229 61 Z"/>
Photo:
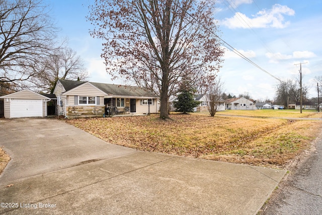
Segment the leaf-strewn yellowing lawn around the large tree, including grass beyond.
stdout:
<path fill-rule="evenodd" d="M 285 168 L 310 148 L 320 133 L 322 121 L 266 118 L 273 117 L 273 111 L 279 114 L 275 117 L 321 117 L 315 112 L 298 115 L 294 111 L 256 110 L 220 112 L 253 117 L 172 114 L 172 120 L 150 115 L 66 122 L 113 144 L 141 151 Z"/>

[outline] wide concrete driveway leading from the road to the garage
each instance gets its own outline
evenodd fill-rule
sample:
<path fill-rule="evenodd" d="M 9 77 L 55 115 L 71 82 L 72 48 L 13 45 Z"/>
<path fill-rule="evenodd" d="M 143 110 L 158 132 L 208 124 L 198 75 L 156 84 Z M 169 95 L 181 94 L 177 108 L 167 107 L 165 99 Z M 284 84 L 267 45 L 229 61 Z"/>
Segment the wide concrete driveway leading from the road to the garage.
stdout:
<path fill-rule="evenodd" d="M 0 139 L 4 214 L 256 214 L 285 174 L 139 152 L 56 119 L 2 119 Z"/>

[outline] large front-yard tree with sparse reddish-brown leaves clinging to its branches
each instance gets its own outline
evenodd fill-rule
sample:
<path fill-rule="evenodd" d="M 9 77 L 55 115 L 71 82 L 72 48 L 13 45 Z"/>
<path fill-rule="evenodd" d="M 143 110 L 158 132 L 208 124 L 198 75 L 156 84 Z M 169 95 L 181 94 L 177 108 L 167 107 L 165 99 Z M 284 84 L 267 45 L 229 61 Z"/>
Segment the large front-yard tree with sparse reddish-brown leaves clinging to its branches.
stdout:
<path fill-rule="evenodd" d="M 107 72 L 158 93 L 165 119 L 183 79 L 193 85 L 220 67 L 214 11 L 213 0 L 96 0 L 88 20 L 104 40 Z"/>

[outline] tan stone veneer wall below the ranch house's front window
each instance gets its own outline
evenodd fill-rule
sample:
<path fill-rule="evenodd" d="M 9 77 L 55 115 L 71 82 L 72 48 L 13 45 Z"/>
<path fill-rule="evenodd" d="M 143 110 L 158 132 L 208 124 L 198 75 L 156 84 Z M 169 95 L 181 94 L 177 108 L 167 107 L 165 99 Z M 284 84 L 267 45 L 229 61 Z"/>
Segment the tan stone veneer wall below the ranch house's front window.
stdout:
<path fill-rule="evenodd" d="M 105 106 L 67 106 L 66 116 L 68 118 L 78 117 L 103 117 Z"/>

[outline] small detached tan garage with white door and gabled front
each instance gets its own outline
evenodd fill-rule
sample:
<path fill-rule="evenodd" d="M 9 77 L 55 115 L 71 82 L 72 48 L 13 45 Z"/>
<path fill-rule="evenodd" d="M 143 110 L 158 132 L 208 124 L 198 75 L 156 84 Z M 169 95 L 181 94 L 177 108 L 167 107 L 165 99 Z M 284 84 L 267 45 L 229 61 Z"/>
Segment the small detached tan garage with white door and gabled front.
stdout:
<path fill-rule="evenodd" d="M 48 97 L 30 90 L 12 93 L 0 99 L 4 99 L 5 118 L 45 117 L 47 102 L 50 101 Z"/>

